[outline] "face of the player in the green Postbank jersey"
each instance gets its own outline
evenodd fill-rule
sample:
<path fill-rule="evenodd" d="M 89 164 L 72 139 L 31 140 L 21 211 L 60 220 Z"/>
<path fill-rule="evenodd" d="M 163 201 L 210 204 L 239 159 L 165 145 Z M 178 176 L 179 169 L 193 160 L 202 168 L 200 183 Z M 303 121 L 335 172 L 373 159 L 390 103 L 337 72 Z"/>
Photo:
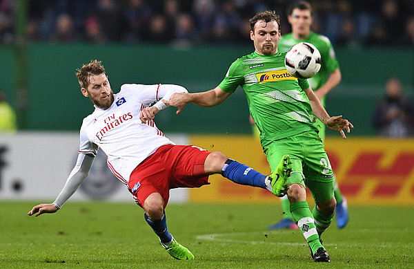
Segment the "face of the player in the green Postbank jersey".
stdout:
<path fill-rule="evenodd" d="M 250 39 L 255 44 L 255 50 L 262 55 L 277 53 L 280 32 L 276 21 L 257 21 L 255 31 L 250 31 Z"/>

